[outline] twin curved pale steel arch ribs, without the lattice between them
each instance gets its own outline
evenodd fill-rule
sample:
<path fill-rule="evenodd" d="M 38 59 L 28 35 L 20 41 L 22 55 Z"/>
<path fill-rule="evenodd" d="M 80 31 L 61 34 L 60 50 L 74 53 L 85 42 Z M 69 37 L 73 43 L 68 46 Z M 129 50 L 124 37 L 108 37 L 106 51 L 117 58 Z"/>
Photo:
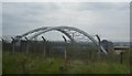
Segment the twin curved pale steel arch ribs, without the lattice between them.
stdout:
<path fill-rule="evenodd" d="M 89 40 L 91 40 L 97 46 L 100 47 L 100 50 L 101 50 L 105 54 L 107 54 L 107 51 L 106 51 L 101 45 L 99 45 L 99 43 L 98 43 L 92 36 L 90 36 L 88 33 L 84 32 L 82 30 L 79 30 L 79 29 L 73 28 L 73 26 L 44 26 L 44 28 L 38 28 L 38 29 L 32 30 L 32 31 L 30 31 L 30 32 L 28 32 L 28 33 L 24 33 L 24 34 L 20 35 L 20 39 L 22 39 L 23 36 L 29 35 L 29 34 L 31 34 L 31 33 L 36 32 L 36 33 L 30 39 L 30 40 L 33 40 L 34 37 L 41 35 L 41 34 L 43 34 L 43 33 L 53 31 L 53 30 L 59 31 L 59 32 L 64 33 L 66 36 L 68 36 L 68 37 L 70 39 L 70 41 L 74 41 L 74 39 L 73 39 L 65 30 L 73 30 L 73 31 L 79 32 L 79 33 L 84 34 L 85 36 L 87 36 Z"/>

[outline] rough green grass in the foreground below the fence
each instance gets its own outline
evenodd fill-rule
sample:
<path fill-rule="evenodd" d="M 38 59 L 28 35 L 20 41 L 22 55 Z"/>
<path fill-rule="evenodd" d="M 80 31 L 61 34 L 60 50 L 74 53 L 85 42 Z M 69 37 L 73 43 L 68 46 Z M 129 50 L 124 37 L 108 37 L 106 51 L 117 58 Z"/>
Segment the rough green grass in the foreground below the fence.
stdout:
<path fill-rule="evenodd" d="M 129 74 L 127 64 L 88 62 L 63 57 L 46 57 L 36 54 L 3 53 L 3 74 Z"/>

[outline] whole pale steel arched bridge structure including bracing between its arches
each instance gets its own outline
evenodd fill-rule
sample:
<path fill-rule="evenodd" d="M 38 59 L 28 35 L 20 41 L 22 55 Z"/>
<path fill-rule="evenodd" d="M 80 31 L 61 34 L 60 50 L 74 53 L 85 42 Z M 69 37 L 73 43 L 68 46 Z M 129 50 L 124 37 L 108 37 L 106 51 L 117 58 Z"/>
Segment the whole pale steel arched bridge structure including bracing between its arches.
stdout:
<path fill-rule="evenodd" d="M 23 39 L 26 39 L 26 40 L 33 41 L 38 35 L 44 34 L 50 31 L 58 31 L 58 32 L 65 34 L 70 40 L 69 42 L 78 42 L 78 41 L 86 42 L 87 40 L 90 40 L 92 43 L 96 44 L 97 47 L 99 47 L 99 51 L 107 54 L 107 51 L 103 48 L 102 45 L 100 45 L 100 43 L 97 40 L 95 40 L 91 35 L 84 32 L 82 30 L 79 30 L 79 29 L 73 28 L 73 26 L 43 26 L 43 28 L 31 30 L 22 35 L 15 36 L 14 40 L 21 41 Z"/>

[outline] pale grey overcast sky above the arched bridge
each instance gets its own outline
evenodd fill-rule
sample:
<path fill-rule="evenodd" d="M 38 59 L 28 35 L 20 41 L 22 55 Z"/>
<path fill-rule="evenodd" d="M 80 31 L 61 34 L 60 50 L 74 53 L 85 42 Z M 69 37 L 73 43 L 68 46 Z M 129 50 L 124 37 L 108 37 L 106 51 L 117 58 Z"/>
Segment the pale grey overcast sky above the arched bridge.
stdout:
<path fill-rule="evenodd" d="M 2 3 L 2 34 L 19 35 L 41 26 L 68 25 L 110 41 L 129 41 L 129 2 Z"/>

